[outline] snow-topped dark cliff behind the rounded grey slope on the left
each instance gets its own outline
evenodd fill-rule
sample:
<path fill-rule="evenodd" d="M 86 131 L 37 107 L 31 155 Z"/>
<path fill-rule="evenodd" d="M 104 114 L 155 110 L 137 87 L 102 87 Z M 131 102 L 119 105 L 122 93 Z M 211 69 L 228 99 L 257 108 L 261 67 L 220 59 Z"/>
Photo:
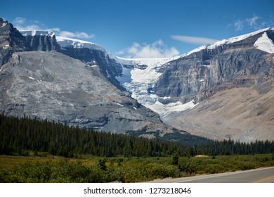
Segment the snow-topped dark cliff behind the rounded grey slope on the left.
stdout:
<path fill-rule="evenodd" d="M 25 30 L 20 31 L 25 36 L 32 51 L 58 51 L 89 65 L 104 75 L 119 89 L 124 87 L 116 80 L 121 75 L 122 65 L 115 61 L 115 57 L 107 53 L 103 47 L 77 39 L 56 37 L 53 32 Z M 112 56 L 112 57 L 110 57 Z"/>

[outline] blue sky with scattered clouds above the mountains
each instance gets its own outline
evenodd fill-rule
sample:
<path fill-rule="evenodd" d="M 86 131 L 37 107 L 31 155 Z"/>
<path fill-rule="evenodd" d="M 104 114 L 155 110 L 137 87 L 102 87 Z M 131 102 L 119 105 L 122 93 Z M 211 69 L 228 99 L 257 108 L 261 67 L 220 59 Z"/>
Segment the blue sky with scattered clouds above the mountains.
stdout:
<path fill-rule="evenodd" d="M 52 30 L 122 57 L 177 56 L 274 26 L 273 0 L 1 0 L 0 17 L 21 30 Z"/>

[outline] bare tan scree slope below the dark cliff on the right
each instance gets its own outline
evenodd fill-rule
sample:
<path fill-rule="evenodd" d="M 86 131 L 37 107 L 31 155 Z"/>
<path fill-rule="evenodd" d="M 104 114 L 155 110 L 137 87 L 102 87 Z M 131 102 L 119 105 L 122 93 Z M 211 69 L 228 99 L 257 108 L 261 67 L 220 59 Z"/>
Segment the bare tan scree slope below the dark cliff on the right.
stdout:
<path fill-rule="evenodd" d="M 210 139 L 230 138 L 248 142 L 257 139 L 273 140 L 273 84 L 272 79 L 258 87 L 217 91 L 192 110 L 173 113 L 162 120 L 178 129 L 186 129 L 191 134 Z M 268 91 L 261 93 L 260 89 L 264 87 Z"/>

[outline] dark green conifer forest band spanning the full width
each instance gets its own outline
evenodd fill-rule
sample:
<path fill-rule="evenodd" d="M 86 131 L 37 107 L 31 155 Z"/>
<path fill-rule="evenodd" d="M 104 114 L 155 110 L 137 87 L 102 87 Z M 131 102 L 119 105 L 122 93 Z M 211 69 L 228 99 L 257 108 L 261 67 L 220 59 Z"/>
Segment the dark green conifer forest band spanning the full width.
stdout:
<path fill-rule="evenodd" d="M 231 155 L 274 153 L 274 141 L 250 144 L 233 140 L 211 141 L 189 146 L 175 141 L 145 139 L 127 134 L 98 132 L 70 127 L 60 122 L 0 115 L 0 154 L 27 155 L 34 151 L 77 158 L 82 154 L 101 157 L 161 157 L 176 152 L 182 156 L 197 154 Z"/>

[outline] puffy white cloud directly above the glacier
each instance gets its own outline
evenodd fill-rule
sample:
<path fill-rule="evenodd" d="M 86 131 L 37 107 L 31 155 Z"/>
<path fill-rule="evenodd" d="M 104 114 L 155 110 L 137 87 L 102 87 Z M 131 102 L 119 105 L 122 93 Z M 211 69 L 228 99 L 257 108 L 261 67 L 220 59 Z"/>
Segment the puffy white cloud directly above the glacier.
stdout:
<path fill-rule="evenodd" d="M 139 44 L 134 42 L 132 46 L 118 52 L 126 58 L 167 58 L 178 56 L 179 51 L 175 47 L 168 47 L 159 39 L 152 44 Z"/>

